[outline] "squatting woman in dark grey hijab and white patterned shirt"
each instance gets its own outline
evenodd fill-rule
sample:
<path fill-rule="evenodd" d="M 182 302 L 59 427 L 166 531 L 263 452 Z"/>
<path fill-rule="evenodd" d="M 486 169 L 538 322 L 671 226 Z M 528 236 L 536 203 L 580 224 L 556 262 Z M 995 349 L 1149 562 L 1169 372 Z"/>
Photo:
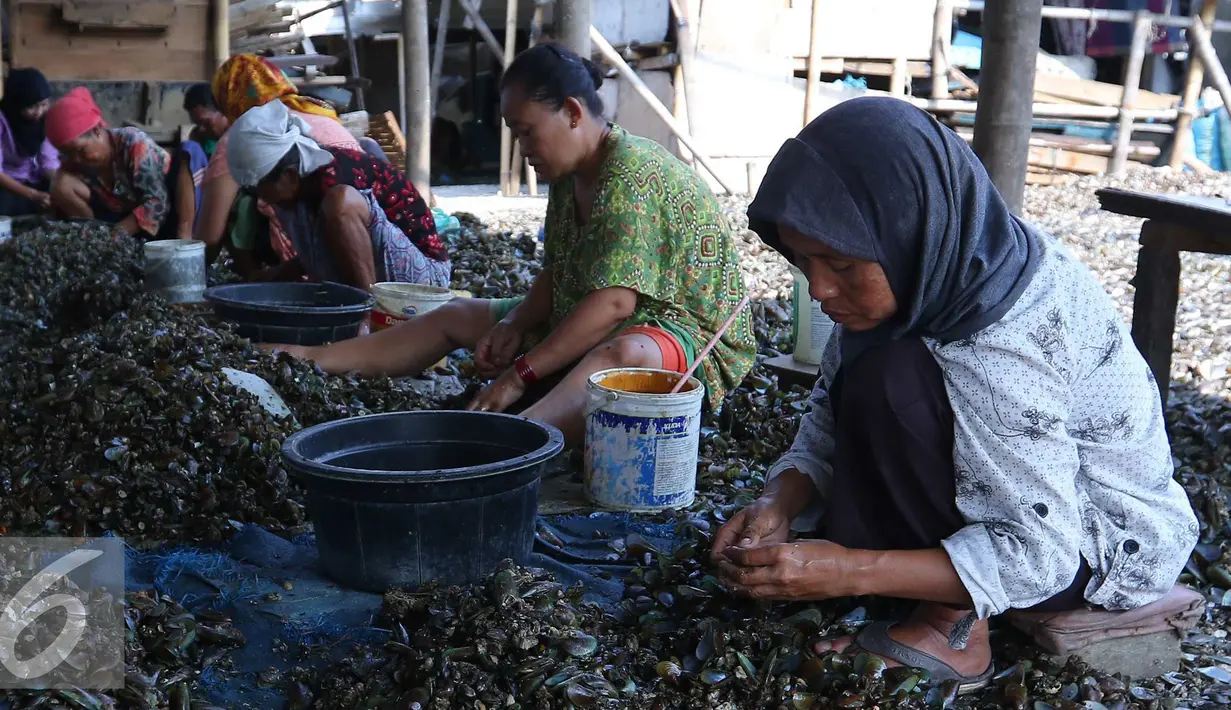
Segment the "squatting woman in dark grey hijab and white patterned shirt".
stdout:
<path fill-rule="evenodd" d="M 748 219 L 838 327 L 792 449 L 715 536 L 732 589 L 920 602 L 814 650 L 964 692 L 991 676 L 992 615 L 1176 608 L 1198 528 L 1157 385 L 1098 282 L 958 135 L 894 98 L 842 103 L 783 145 Z"/>

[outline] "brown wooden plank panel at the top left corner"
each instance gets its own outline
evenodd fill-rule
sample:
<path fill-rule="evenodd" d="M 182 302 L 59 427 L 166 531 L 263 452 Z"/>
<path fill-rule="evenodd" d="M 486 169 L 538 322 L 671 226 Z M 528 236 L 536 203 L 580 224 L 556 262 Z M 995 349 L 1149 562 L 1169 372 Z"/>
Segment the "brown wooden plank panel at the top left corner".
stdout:
<path fill-rule="evenodd" d="M 151 23 L 165 23 L 165 30 L 81 27 L 64 20 L 66 4 L 60 0 L 10 2 L 12 66 L 36 66 L 52 80 L 206 81 L 213 76 L 208 0 L 91 2 L 114 5 L 117 17 L 148 15 Z"/>

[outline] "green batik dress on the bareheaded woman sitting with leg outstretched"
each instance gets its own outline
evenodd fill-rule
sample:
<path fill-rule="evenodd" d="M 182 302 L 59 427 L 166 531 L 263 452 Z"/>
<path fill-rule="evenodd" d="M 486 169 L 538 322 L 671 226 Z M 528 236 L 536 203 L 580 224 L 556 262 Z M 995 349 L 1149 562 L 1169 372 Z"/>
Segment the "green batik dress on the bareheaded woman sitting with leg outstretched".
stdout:
<path fill-rule="evenodd" d="M 657 143 L 614 126 L 604 148 L 587 224 L 577 223 L 572 180 L 551 182 L 548 325 L 556 327 L 592 292 L 630 288 L 636 310 L 617 332 L 659 326 L 692 362 L 747 293 L 726 217 L 704 181 Z M 751 309 L 744 309 L 697 370 L 710 406 L 748 374 L 756 352 Z"/>

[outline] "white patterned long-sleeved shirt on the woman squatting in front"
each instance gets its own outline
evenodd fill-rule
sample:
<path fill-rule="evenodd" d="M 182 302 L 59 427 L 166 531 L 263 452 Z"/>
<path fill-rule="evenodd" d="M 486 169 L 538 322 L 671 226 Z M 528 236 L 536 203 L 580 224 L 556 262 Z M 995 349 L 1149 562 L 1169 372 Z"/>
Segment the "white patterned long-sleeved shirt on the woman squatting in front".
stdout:
<path fill-rule="evenodd" d="M 927 341 L 953 406 L 966 521 L 943 546 L 981 619 L 1064 591 L 1082 557 L 1093 571 L 1087 602 L 1142 607 L 1171 589 L 1197 543 L 1153 375 L 1093 274 L 1045 241 L 1044 262 L 1000 322 Z M 840 342 L 841 327 L 795 442 L 767 476 L 794 468 L 820 491 L 798 530 L 824 513 Z"/>

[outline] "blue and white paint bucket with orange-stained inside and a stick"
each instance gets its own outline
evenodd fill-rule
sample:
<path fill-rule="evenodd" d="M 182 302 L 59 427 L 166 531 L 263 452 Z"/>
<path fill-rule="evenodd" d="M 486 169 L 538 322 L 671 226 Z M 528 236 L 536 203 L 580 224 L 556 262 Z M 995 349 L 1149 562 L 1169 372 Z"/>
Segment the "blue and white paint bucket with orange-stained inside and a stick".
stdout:
<path fill-rule="evenodd" d="M 586 495 L 617 511 L 684 508 L 697 495 L 705 388 L 650 368 L 597 372 L 586 383 Z"/>

